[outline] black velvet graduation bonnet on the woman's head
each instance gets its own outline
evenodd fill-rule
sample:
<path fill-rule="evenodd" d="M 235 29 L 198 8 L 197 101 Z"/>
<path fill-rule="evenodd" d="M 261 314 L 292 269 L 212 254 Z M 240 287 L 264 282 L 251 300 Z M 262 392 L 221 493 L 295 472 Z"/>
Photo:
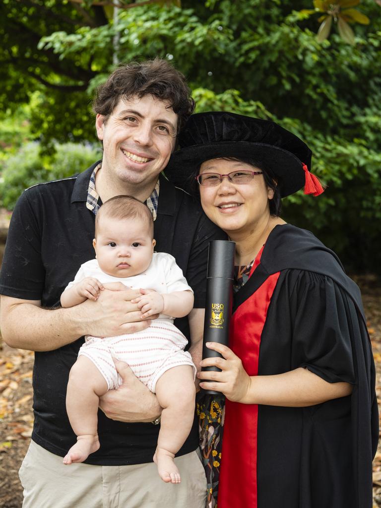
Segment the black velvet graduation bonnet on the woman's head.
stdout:
<path fill-rule="evenodd" d="M 165 174 L 192 193 L 200 165 L 213 158 L 252 158 L 279 177 L 281 197 L 304 186 L 303 164 L 311 169 L 311 150 L 297 136 L 269 120 L 224 111 L 197 113 L 187 121 Z"/>

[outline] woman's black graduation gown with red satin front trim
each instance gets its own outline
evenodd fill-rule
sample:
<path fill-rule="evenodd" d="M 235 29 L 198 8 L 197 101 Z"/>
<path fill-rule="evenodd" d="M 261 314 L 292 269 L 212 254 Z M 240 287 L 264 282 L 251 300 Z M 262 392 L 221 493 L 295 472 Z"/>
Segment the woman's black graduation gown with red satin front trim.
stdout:
<path fill-rule="evenodd" d="M 306 367 L 351 396 L 309 407 L 226 401 L 218 508 L 371 508 L 375 369 L 360 291 L 312 233 L 276 226 L 236 293 L 249 375 Z"/>

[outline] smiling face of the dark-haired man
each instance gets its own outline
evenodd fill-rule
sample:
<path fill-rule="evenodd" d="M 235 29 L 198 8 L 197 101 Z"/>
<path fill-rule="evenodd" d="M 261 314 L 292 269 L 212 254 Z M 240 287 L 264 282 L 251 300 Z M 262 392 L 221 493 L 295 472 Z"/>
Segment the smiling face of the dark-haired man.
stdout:
<path fill-rule="evenodd" d="M 152 96 L 120 100 L 96 127 L 103 141 L 102 172 L 115 183 L 155 182 L 175 146 L 177 115 L 168 103 Z"/>

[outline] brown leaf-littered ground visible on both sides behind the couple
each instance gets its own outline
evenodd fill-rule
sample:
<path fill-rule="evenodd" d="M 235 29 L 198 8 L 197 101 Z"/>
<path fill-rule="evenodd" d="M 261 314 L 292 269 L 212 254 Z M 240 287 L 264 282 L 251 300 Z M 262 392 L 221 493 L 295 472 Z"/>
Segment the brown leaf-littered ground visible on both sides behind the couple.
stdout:
<path fill-rule="evenodd" d="M 0 214 L 0 240 L 2 235 Z M 0 264 L 2 246 L 0 245 Z M 381 402 L 381 279 L 353 275 L 360 285 L 377 371 L 377 398 Z M 0 337 L 0 508 L 21 508 L 18 469 L 27 450 L 33 413 L 31 376 L 33 353 L 14 350 Z M 373 508 L 381 507 L 381 444 L 373 463 Z M 38 508 L 38 507 L 36 507 Z M 90 508 L 90 507 L 89 507 Z"/>

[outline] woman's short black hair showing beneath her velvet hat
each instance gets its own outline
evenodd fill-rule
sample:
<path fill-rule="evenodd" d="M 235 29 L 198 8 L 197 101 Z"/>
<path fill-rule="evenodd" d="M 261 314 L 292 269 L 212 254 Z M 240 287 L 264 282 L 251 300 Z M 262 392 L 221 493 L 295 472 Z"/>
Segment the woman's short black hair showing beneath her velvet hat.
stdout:
<path fill-rule="evenodd" d="M 216 157 L 221 158 L 224 161 L 238 161 L 243 162 L 245 164 L 249 164 L 253 168 L 258 168 L 261 171 L 263 171 L 263 178 L 265 180 L 266 186 L 271 188 L 274 192 L 274 196 L 272 199 L 269 199 L 269 208 L 270 208 L 270 215 L 273 215 L 275 217 L 280 216 L 280 211 L 282 207 L 282 199 L 280 196 L 280 189 L 281 186 L 281 179 L 273 173 L 271 168 L 269 168 L 266 164 L 256 161 L 251 158 L 245 158 L 245 157 Z M 186 188 L 189 189 L 190 194 L 193 196 L 200 197 L 200 189 L 199 184 L 197 183 L 195 176 L 199 174 L 200 167 L 197 168 L 197 171 L 190 175 L 186 182 Z"/>

